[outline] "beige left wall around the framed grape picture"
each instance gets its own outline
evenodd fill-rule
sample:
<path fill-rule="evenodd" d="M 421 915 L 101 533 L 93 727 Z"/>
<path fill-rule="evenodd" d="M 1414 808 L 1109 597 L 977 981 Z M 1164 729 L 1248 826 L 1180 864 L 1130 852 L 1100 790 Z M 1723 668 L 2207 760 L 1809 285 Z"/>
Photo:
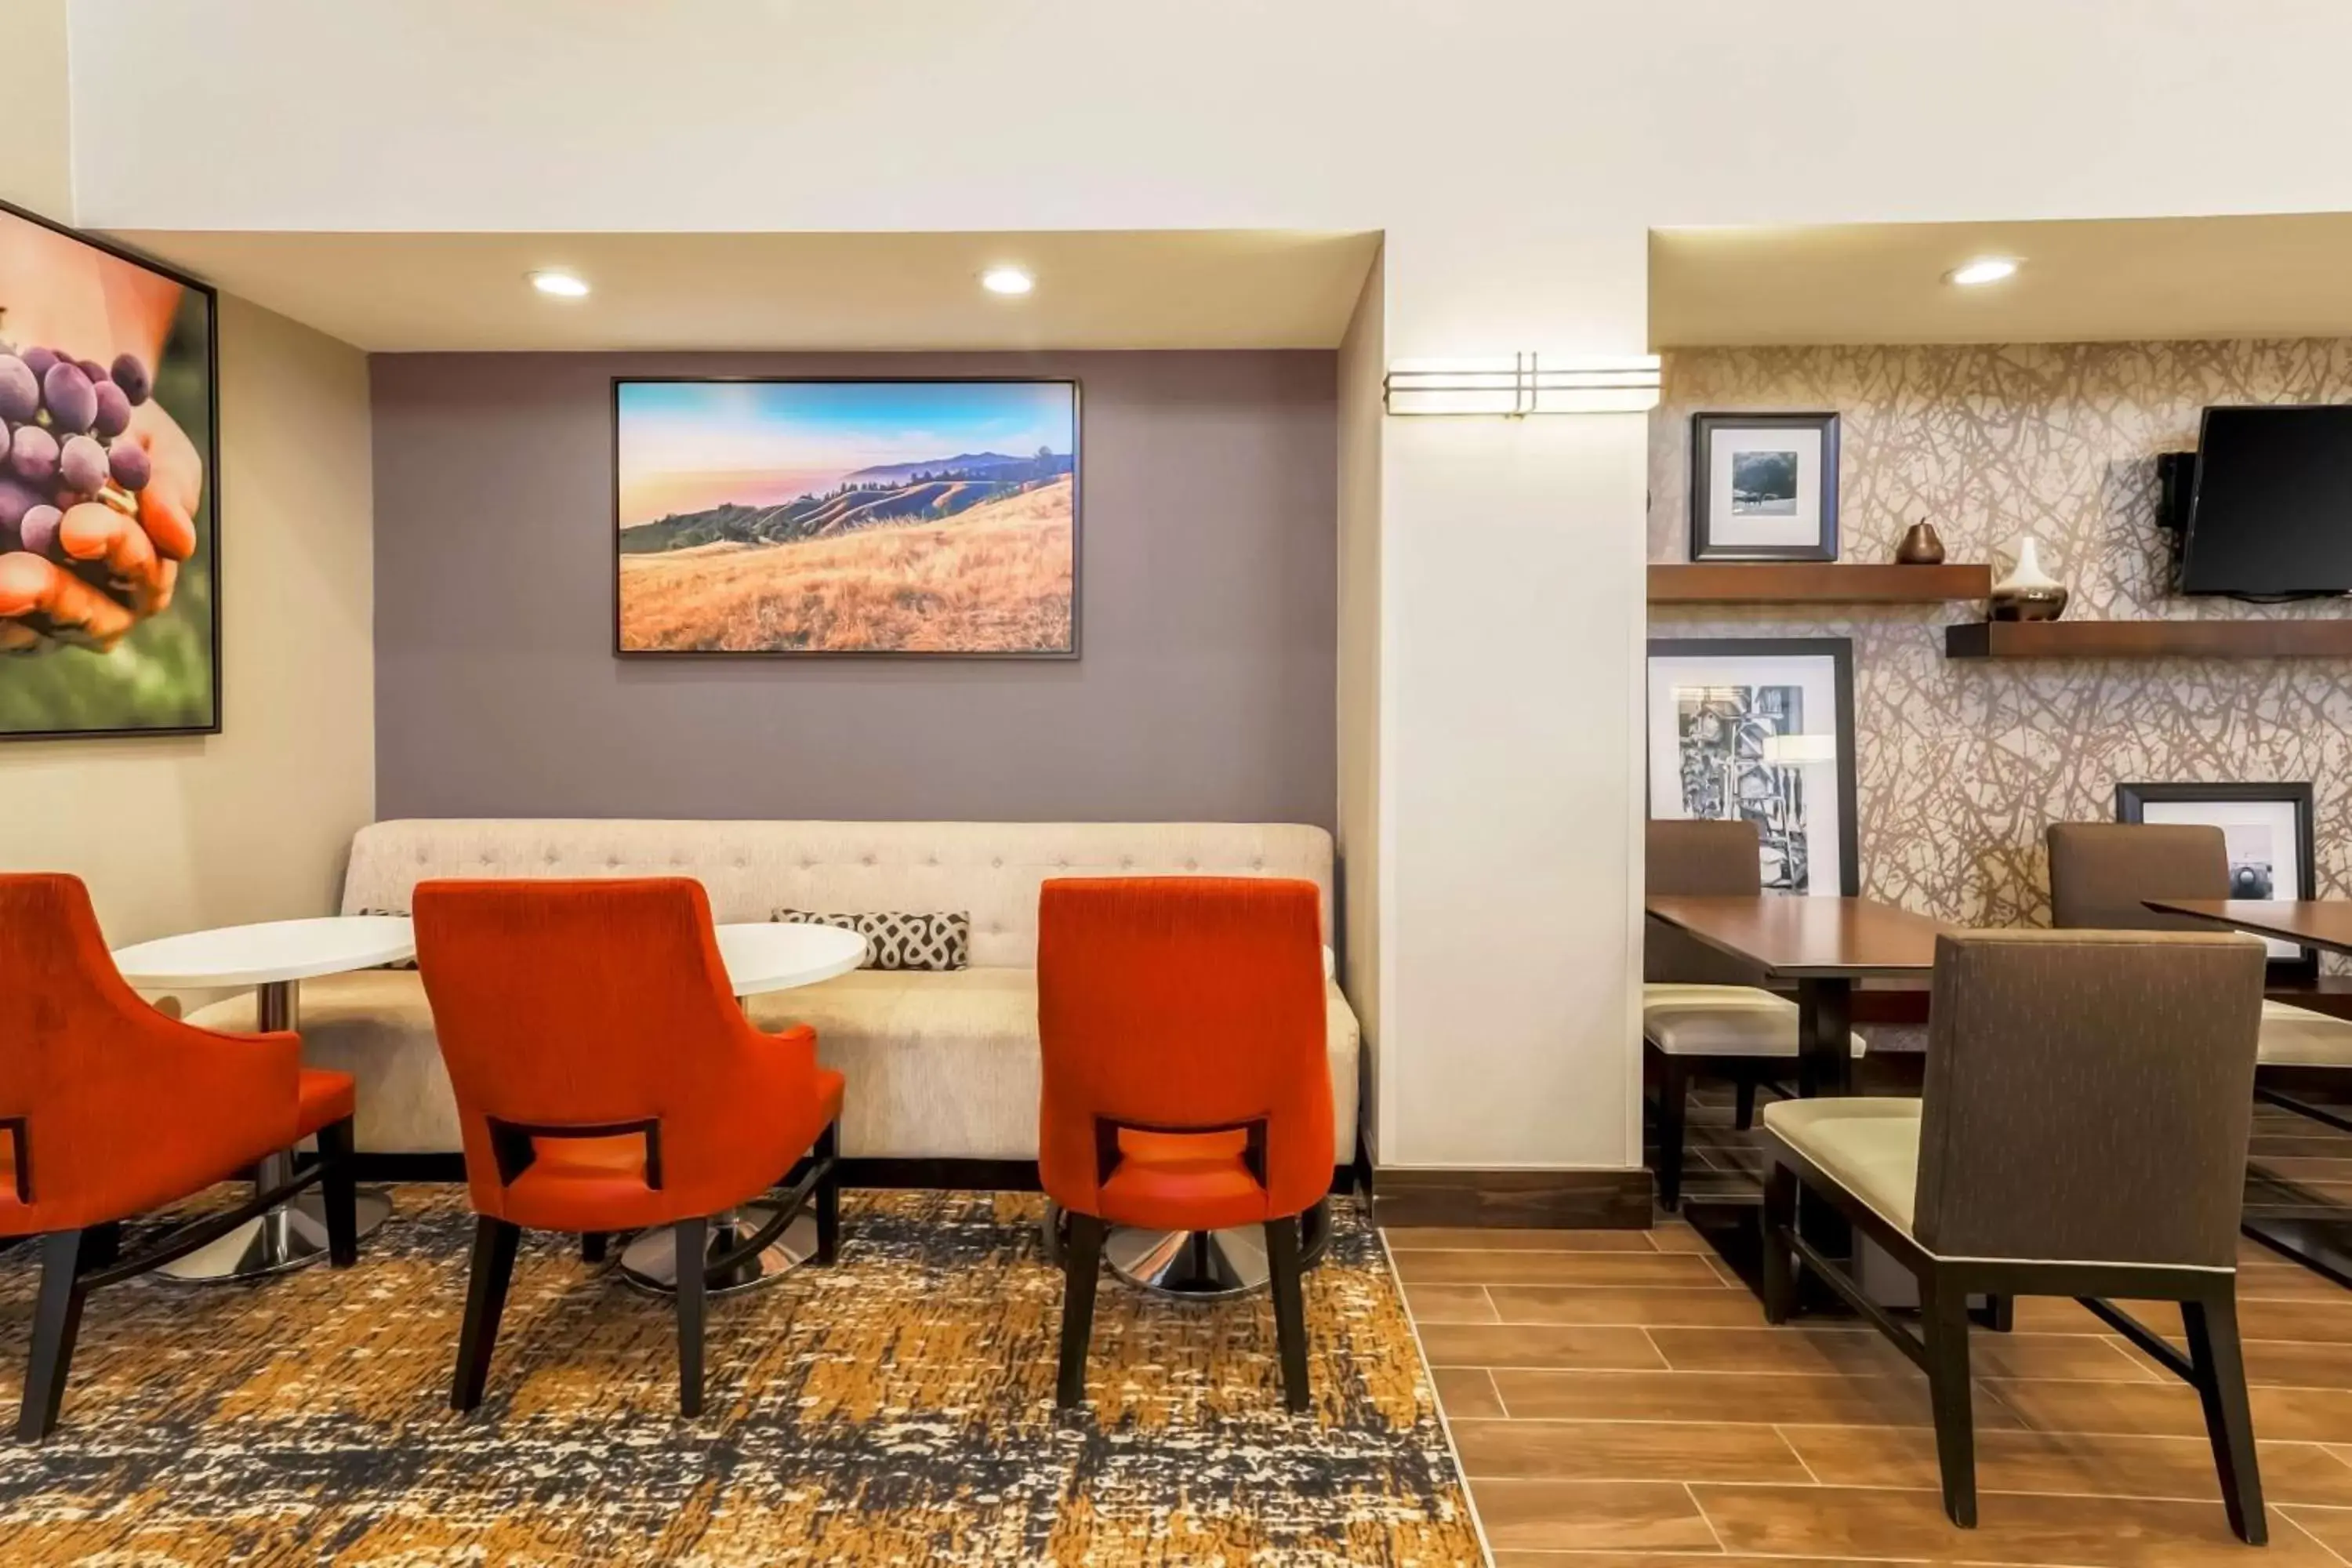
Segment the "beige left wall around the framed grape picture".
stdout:
<path fill-rule="evenodd" d="M 0 197 L 73 221 L 66 2 L 0 2 Z M 223 731 L 0 745 L 0 870 L 80 875 L 118 945 L 334 910 L 376 792 L 369 496 L 365 355 L 223 299 Z"/>

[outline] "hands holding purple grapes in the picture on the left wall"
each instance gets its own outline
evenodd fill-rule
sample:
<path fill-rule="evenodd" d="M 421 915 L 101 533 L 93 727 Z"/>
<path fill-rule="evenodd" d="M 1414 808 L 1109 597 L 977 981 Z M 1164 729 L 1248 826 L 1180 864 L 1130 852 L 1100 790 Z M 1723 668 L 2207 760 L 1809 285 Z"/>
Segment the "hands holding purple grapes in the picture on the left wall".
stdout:
<path fill-rule="evenodd" d="M 153 390 L 139 355 L 0 343 L 0 651 L 103 651 L 172 604 L 205 468 Z"/>

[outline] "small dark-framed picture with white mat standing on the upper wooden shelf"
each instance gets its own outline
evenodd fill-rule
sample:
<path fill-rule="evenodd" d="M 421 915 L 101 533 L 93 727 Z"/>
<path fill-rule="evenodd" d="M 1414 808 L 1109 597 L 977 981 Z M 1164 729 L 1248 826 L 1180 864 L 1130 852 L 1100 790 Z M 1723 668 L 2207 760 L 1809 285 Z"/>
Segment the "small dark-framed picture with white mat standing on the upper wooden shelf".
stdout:
<path fill-rule="evenodd" d="M 1691 414 L 1691 559 L 1837 559 L 1837 414 Z"/>

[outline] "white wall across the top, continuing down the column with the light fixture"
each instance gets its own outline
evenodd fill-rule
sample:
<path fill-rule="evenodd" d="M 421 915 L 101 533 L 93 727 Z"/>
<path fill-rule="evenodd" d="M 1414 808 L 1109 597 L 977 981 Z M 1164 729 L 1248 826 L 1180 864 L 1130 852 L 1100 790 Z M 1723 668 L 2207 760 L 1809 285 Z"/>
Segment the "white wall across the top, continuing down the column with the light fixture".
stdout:
<path fill-rule="evenodd" d="M 80 0 L 82 216 L 1383 230 L 1390 357 L 1628 350 L 1649 226 L 2340 207 L 2352 54 L 2333 0 L 706 0 L 682 113 L 644 92 L 677 28 Z M 1639 418 L 1383 430 L 1390 1164 L 1639 1157 L 1642 461 Z"/>

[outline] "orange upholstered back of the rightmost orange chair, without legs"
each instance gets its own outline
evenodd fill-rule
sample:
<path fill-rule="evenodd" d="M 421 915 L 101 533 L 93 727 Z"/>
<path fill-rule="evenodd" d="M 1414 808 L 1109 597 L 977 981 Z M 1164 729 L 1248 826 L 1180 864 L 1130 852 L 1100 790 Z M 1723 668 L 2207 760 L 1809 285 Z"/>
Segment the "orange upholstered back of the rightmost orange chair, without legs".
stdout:
<path fill-rule="evenodd" d="M 1263 1220 L 1331 1190 L 1319 893 L 1275 877 L 1047 882 L 1040 1178 L 1101 1208 L 1117 1128 L 1261 1128 Z"/>

